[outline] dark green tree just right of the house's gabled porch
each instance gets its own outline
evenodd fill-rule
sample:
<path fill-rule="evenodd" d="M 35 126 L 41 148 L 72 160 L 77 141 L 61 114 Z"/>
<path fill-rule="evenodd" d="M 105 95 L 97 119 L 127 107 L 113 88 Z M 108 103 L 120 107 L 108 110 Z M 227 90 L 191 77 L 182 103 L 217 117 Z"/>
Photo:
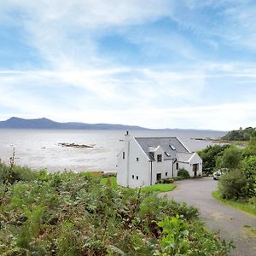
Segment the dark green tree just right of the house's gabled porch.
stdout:
<path fill-rule="evenodd" d="M 211 145 L 198 152 L 202 160 L 202 171 L 205 174 L 211 174 L 213 172 L 213 169 L 216 167 L 216 160 L 224 154 L 226 148 L 230 148 L 230 145 Z"/>

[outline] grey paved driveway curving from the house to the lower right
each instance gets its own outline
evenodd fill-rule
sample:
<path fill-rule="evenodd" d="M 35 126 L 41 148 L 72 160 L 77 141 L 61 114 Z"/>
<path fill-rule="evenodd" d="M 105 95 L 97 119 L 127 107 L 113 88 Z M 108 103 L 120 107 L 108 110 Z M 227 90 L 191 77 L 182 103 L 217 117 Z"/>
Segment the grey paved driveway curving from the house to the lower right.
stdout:
<path fill-rule="evenodd" d="M 221 238 L 234 241 L 236 249 L 230 255 L 256 255 L 256 218 L 213 199 L 212 191 L 217 190 L 218 182 L 203 177 L 176 184 L 176 189 L 163 195 L 197 207 L 209 230 L 219 230 Z"/>

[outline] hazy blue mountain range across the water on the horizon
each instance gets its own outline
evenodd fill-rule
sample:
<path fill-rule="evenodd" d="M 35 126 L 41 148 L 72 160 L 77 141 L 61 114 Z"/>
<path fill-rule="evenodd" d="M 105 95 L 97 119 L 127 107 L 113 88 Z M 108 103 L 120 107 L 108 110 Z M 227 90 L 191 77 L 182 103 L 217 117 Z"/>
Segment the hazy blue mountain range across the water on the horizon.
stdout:
<path fill-rule="evenodd" d="M 12 117 L 0 121 L 0 129 L 84 129 L 84 130 L 147 130 L 135 125 L 58 123 L 50 119 L 20 119 Z"/>

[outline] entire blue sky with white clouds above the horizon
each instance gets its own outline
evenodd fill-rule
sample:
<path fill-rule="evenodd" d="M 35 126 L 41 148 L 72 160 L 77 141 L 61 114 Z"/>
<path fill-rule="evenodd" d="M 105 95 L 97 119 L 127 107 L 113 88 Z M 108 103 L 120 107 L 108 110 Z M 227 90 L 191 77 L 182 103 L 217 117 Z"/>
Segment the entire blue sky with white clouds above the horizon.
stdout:
<path fill-rule="evenodd" d="M 256 126 L 256 3 L 0 3 L 0 119 Z"/>

